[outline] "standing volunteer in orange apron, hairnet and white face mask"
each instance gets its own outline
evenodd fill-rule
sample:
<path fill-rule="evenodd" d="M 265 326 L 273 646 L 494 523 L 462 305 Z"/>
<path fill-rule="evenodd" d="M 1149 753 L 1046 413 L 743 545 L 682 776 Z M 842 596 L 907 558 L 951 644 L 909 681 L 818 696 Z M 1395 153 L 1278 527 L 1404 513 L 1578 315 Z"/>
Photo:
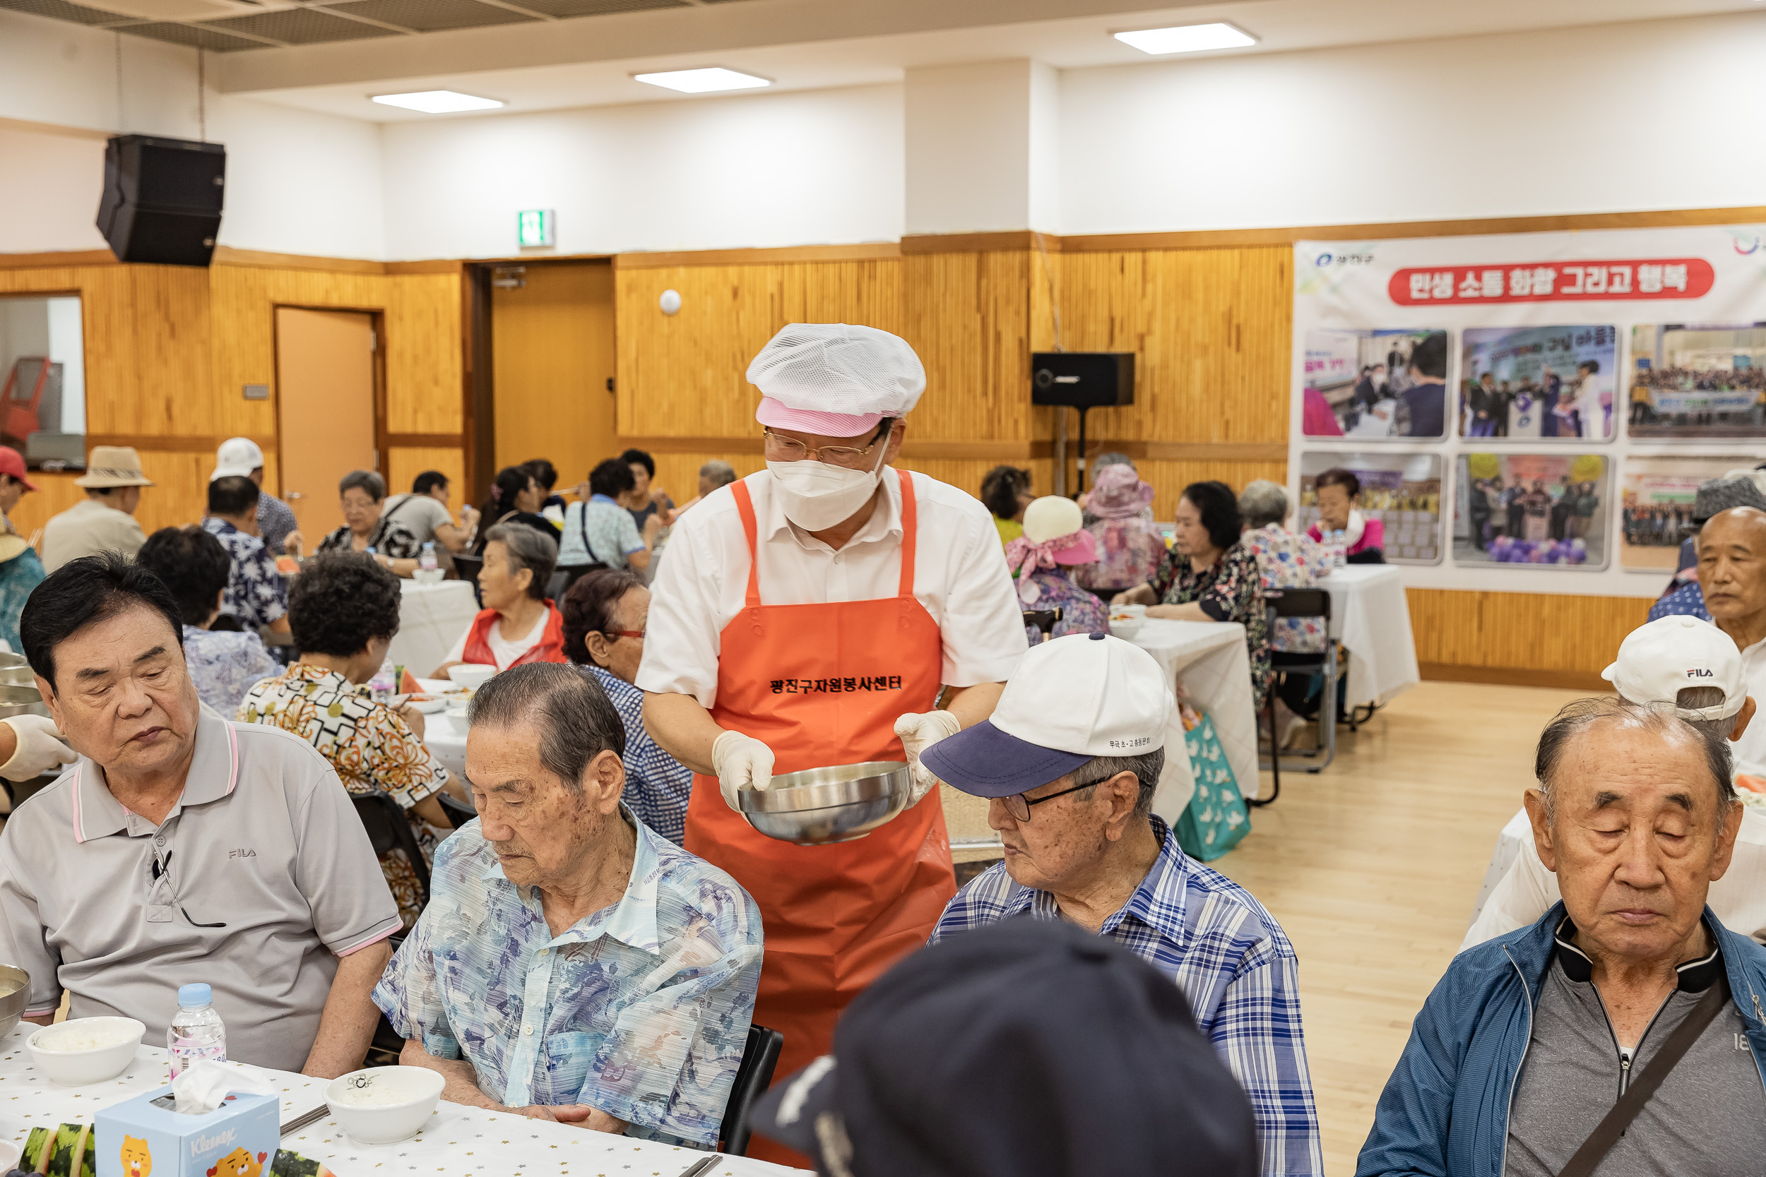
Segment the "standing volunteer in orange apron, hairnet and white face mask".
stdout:
<path fill-rule="evenodd" d="M 846 1002 L 924 944 L 955 893 L 918 755 L 992 713 L 1026 642 L 987 508 L 888 466 L 925 388 L 906 342 L 800 323 L 749 381 L 766 469 L 675 524 L 638 686 L 655 741 L 696 771 L 687 849 L 761 907 L 754 1020 L 784 1034 L 784 1076 L 830 1050 Z M 915 803 L 855 842 L 777 842 L 735 810 L 774 773 L 902 759 Z"/>

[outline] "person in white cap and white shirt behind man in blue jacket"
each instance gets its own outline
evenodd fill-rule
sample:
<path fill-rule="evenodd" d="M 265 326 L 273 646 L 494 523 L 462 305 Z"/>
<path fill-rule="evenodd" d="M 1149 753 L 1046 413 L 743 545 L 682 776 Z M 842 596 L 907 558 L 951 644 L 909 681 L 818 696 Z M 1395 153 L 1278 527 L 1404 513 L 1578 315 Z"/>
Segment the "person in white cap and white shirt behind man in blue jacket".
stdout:
<path fill-rule="evenodd" d="M 1637 626 L 1619 642 L 1619 656 L 1600 678 L 1632 702 L 1671 702 L 1683 718 L 1731 741 L 1741 741 L 1757 722 L 1741 651 L 1727 633 L 1699 618 L 1674 614 Z M 1736 769 L 1743 771 L 1740 755 Z M 1766 805 L 1755 806 L 1740 782 L 1736 791 L 1743 798 L 1741 831 L 1727 870 L 1711 879 L 1706 902 L 1725 928 L 1766 942 Z M 1510 828 L 1522 817 L 1524 812 L 1517 813 Z M 1545 870 L 1529 835 L 1483 900 L 1459 949 L 1533 925 L 1559 898 L 1558 875 Z"/>

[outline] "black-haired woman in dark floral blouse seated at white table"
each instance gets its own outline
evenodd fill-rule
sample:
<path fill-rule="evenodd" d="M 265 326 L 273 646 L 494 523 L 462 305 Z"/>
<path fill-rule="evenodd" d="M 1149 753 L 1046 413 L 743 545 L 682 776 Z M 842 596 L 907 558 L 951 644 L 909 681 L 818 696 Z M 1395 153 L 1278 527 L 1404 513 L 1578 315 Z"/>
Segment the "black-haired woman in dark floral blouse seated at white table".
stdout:
<path fill-rule="evenodd" d="M 1250 655 L 1250 690 L 1257 709 L 1270 690 L 1270 611 L 1257 558 L 1240 544 L 1243 521 L 1233 487 L 1192 482 L 1178 499 L 1171 551 L 1146 584 L 1114 602 L 1148 605 L 1146 616 L 1173 621 L 1238 621 Z"/>

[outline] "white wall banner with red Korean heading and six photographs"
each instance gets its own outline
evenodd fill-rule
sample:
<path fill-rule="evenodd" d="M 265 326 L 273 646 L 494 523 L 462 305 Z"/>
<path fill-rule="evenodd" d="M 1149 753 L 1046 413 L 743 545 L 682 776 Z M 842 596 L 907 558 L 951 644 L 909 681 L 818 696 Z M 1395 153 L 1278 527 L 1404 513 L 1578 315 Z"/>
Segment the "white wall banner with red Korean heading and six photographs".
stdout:
<path fill-rule="evenodd" d="M 1644 552 L 1687 529 L 1678 499 L 1766 462 L 1762 245 L 1766 226 L 1300 242 L 1300 512 L 1323 469 L 1385 448 L 1441 471 L 1438 514 L 1381 521 L 1411 540 L 1386 552 L 1406 582 L 1655 596 L 1667 552 Z"/>

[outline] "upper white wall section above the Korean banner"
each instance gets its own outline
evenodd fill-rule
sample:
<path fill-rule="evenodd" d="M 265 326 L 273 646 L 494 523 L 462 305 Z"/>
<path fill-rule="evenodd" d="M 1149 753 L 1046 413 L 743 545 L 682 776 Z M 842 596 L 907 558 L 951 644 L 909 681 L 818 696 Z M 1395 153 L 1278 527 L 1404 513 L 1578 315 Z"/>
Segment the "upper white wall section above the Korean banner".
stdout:
<path fill-rule="evenodd" d="M 1061 233 L 1766 199 L 1766 16 L 1061 74 Z"/>

